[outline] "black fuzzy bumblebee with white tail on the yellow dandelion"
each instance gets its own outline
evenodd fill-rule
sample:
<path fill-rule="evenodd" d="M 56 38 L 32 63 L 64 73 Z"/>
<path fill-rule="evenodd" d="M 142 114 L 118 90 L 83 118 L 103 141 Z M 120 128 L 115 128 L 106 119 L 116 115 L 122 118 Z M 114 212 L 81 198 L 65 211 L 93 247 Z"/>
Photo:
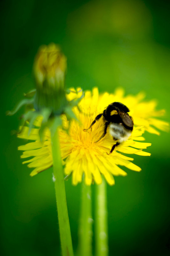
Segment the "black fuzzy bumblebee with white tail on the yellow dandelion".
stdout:
<path fill-rule="evenodd" d="M 113 102 L 108 105 L 103 113 L 97 115 L 90 127 L 88 129 L 84 129 L 84 131 L 88 131 L 90 128 L 92 128 L 96 121 L 103 116 L 105 128 L 99 140 L 106 135 L 107 127 L 109 126 L 110 135 L 113 137 L 113 140 L 117 141 L 116 144 L 112 146 L 110 151 L 111 154 L 116 146 L 126 141 L 131 136 L 133 131 L 133 118 L 129 116 L 129 111 L 130 110 L 124 104 L 120 102 Z"/>

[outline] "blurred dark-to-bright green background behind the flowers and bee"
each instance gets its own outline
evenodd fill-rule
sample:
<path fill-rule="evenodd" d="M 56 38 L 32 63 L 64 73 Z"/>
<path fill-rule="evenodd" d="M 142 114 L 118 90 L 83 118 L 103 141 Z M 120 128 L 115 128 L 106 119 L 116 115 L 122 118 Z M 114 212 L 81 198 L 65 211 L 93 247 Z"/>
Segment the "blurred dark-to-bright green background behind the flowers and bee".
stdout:
<path fill-rule="evenodd" d="M 169 6 L 169 1 L 147 0 L 1 1 L 3 255 L 60 255 L 52 168 L 29 176 L 17 151 L 25 141 L 11 135 L 22 111 L 5 116 L 34 88 L 38 47 L 61 45 L 68 58 L 68 87 L 98 86 L 111 93 L 121 86 L 126 94 L 144 90 L 147 100 L 156 98 L 158 109 L 167 109 L 164 119 L 169 120 Z M 115 186 L 108 186 L 110 256 L 169 255 L 169 134 L 145 137 L 152 143 L 151 157 L 134 157 L 142 171 L 126 170 L 126 177 L 116 177 Z M 75 252 L 80 189 L 66 182 Z"/>

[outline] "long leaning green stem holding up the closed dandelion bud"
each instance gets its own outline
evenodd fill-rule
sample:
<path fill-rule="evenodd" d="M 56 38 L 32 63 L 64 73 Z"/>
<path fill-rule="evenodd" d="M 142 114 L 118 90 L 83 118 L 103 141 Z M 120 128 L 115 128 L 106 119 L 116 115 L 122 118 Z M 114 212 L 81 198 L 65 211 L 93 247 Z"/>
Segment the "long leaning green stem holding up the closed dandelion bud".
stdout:
<path fill-rule="evenodd" d="M 51 147 L 62 256 L 73 256 L 58 129 L 53 136 L 51 134 Z"/>

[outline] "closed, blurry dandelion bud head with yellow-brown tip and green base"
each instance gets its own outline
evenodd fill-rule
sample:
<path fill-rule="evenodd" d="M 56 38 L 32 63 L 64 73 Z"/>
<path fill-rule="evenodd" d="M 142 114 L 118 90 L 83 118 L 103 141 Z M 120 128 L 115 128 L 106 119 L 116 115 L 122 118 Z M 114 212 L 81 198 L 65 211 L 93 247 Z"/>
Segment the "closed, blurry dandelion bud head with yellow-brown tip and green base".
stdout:
<path fill-rule="evenodd" d="M 66 105 L 65 72 L 66 57 L 58 45 L 51 43 L 39 48 L 34 61 L 36 97 L 34 108 L 50 108 L 55 114 L 61 114 Z"/>

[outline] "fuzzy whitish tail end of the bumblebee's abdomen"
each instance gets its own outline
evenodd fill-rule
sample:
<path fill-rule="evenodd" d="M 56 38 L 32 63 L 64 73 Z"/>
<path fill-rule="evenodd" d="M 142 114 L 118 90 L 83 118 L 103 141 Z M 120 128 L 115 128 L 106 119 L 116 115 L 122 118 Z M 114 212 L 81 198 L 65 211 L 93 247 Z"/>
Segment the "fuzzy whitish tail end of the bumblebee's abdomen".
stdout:
<path fill-rule="evenodd" d="M 121 143 L 131 136 L 132 131 L 127 130 L 122 123 L 111 123 L 109 133 L 114 140 L 118 140 Z"/>

